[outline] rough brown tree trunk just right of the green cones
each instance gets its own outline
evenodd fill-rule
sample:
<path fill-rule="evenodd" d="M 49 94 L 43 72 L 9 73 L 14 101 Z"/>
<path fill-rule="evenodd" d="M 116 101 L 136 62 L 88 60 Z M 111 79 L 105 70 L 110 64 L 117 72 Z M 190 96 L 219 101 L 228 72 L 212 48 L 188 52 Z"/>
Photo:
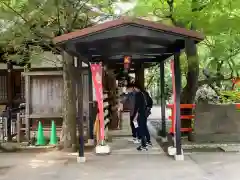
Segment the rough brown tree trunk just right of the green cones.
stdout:
<path fill-rule="evenodd" d="M 76 92 L 72 75 L 73 57 L 63 53 L 63 124 L 60 145 L 63 150 L 76 149 Z"/>

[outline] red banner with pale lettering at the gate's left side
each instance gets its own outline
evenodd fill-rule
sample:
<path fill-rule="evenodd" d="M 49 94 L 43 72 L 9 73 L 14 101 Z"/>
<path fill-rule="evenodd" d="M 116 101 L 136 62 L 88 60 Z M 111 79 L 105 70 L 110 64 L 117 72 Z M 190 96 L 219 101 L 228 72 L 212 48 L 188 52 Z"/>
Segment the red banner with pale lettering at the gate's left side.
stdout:
<path fill-rule="evenodd" d="M 100 124 L 100 141 L 104 140 L 104 112 L 103 112 L 103 87 L 102 87 L 102 65 L 91 64 L 92 80 L 95 87 L 98 102 L 98 118 Z"/>

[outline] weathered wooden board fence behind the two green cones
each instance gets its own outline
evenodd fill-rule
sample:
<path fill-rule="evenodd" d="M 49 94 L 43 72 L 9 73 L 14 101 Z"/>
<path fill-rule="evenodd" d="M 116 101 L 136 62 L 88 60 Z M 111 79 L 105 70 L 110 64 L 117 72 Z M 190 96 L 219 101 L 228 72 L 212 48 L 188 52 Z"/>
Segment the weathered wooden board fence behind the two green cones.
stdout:
<path fill-rule="evenodd" d="M 37 120 L 44 120 L 43 125 L 50 126 L 51 120 L 62 124 L 63 78 L 62 71 L 31 71 L 23 73 L 25 78 L 26 110 L 23 124 L 27 140 Z M 77 103 L 77 102 L 76 102 Z M 83 116 L 89 119 L 89 84 L 88 71 L 83 72 Z M 60 120 L 60 121 L 59 121 Z"/>

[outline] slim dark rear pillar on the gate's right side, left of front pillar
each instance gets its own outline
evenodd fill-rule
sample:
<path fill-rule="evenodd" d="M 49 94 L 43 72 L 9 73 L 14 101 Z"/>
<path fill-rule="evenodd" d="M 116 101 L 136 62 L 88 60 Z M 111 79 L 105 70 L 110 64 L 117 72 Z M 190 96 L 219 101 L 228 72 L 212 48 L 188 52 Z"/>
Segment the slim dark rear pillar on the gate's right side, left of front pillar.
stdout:
<path fill-rule="evenodd" d="M 165 100 L 165 79 L 164 79 L 164 61 L 160 62 L 160 84 L 161 84 L 161 136 L 166 137 L 166 100 Z"/>

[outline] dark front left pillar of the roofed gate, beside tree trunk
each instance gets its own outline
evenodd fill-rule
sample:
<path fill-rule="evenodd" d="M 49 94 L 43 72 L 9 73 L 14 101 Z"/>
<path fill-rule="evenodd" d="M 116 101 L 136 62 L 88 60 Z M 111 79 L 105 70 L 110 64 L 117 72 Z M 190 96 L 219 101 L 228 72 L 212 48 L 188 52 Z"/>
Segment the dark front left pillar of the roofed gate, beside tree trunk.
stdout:
<path fill-rule="evenodd" d="M 79 158 L 84 158 L 84 119 L 83 119 L 83 73 L 82 60 L 77 59 L 78 83 L 77 83 L 77 99 L 78 99 L 78 131 L 79 131 Z"/>

